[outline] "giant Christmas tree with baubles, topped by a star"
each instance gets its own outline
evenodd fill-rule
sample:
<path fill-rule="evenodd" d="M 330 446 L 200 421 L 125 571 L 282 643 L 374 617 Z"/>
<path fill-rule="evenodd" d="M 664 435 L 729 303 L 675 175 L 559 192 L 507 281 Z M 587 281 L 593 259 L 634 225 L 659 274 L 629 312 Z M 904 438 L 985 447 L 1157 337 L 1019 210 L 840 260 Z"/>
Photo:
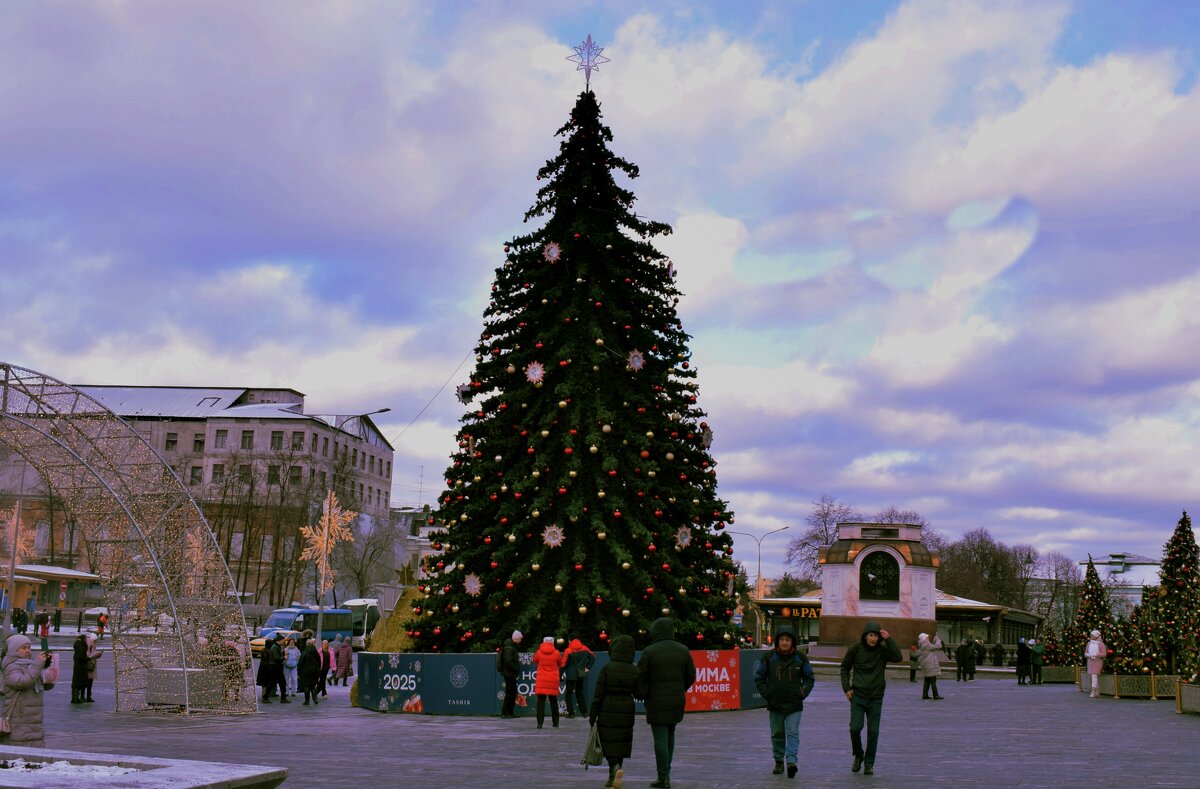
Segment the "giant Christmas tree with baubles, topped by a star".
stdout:
<path fill-rule="evenodd" d="M 590 89 L 557 134 L 526 215 L 544 223 L 504 245 L 460 387 L 413 649 L 492 650 L 514 630 L 644 644 L 662 615 L 692 648 L 732 645 L 732 513 L 673 264 L 650 242 L 670 228 L 634 213 L 614 175 L 637 168 Z"/>

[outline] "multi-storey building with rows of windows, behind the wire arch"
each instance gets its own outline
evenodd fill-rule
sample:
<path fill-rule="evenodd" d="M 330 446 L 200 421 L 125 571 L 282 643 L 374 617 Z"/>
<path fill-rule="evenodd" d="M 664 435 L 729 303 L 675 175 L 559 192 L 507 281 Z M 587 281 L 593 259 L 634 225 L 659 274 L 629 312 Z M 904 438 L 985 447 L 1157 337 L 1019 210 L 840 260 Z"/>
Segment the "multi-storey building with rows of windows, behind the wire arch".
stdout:
<path fill-rule="evenodd" d="M 305 414 L 292 389 L 79 386 L 133 426 L 200 504 L 246 602 L 312 598 L 300 528 L 329 490 L 389 518 L 392 446 L 370 415 Z"/>

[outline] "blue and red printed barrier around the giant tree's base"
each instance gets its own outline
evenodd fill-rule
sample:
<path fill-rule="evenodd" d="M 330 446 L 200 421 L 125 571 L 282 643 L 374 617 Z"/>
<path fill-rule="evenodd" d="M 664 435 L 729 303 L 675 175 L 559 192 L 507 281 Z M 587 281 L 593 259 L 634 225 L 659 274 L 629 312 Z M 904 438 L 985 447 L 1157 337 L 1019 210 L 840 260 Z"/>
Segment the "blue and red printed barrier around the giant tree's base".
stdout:
<path fill-rule="evenodd" d="M 766 650 L 694 651 L 696 683 L 688 691 L 685 710 L 750 710 L 766 706 L 754 686 L 755 665 Z M 595 652 L 596 662 L 586 679 L 587 699 L 595 694 L 596 677 L 608 662 L 607 652 Z M 641 652 L 635 656 L 635 662 Z M 496 670 L 494 654 L 359 652 L 359 706 L 379 712 L 426 715 L 500 713 L 504 677 Z M 535 712 L 533 692 L 538 669 L 530 652 L 521 656 L 516 715 Z M 559 685 L 559 707 L 566 709 L 566 687 Z M 643 711 L 641 701 L 637 712 Z"/>

